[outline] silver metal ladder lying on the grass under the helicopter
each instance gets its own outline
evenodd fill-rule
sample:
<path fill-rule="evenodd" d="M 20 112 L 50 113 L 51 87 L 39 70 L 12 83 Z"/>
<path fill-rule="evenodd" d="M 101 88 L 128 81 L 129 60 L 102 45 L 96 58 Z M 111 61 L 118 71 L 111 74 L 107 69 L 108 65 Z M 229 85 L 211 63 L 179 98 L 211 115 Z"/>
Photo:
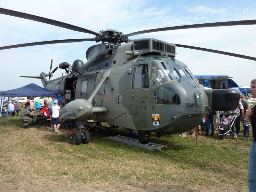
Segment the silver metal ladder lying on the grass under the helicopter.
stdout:
<path fill-rule="evenodd" d="M 110 139 L 110 140 L 126 143 L 126 144 L 129 144 L 129 145 L 132 145 L 132 146 L 148 149 L 148 150 L 151 150 L 151 151 L 155 151 L 155 150 L 160 151 L 161 148 L 168 148 L 167 144 L 162 145 L 162 144 L 157 144 L 157 143 L 152 143 L 152 142 L 148 142 L 148 144 L 141 144 L 138 139 L 124 137 L 124 136 L 121 136 L 121 135 L 116 135 L 114 137 L 112 137 L 112 136 L 105 137 L 104 139 Z"/>

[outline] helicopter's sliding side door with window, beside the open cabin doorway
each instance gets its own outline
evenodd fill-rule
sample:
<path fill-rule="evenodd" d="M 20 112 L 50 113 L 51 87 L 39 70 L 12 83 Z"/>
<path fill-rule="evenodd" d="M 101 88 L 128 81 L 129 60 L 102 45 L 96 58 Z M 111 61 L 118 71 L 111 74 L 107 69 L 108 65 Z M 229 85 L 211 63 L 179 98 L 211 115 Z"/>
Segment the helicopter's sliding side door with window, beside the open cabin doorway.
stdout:
<path fill-rule="evenodd" d="M 76 99 L 88 100 L 94 91 L 95 80 L 98 73 L 80 75 L 76 84 Z M 92 100 L 93 103 L 93 100 Z"/>

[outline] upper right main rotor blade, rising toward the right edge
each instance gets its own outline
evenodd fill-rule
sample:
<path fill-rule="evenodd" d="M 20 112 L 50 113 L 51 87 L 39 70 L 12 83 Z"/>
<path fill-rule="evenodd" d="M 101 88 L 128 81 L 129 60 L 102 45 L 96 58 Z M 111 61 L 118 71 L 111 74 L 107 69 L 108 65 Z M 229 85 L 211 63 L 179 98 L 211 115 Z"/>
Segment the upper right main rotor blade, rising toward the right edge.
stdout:
<path fill-rule="evenodd" d="M 177 29 L 191 29 L 191 28 L 204 28 L 204 27 L 224 27 L 224 26 L 234 26 L 234 25 L 255 25 L 255 24 L 256 24 L 256 20 L 202 23 L 202 24 L 194 24 L 194 25 L 182 25 L 182 26 L 174 26 L 174 27 L 165 27 L 165 28 L 157 28 L 157 29 L 149 29 L 149 30 L 144 30 L 144 31 L 137 31 L 137 32 L 129 33 L 127 35 L 122 35 L 122 37 L 129 37 L 129 36 L 139 35 L 139 34 L 144 34 L 144 33 L 169 31 L 169 30 L 177 30 Z"/>

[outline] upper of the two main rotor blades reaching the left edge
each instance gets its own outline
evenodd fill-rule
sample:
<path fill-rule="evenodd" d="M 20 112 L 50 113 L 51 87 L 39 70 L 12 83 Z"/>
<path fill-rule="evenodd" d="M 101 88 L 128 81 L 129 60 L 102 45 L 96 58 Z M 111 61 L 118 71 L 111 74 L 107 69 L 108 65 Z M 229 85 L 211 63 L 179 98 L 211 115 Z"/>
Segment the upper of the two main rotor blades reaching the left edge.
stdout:
<path fill-rule="evenodd" d="M 63 23 L 63 22 L 60 22 L 60 21 L 47 19 L 47 18 L 44 18 L 44 17 L 36 16 L 36 15 L 31 15 L 31 14 L 28 14 L 28 13 L 13 11 L 13 10 L 4 9 L 4 8 L 0 8 L 0 13 L 5 14 L 5 15 L 14 16 L 14 17 L 20 17 L 20 18 L 23 18 L 23 19 L 38 21 L 38 22 L 46 23 L 46 24 L 50 24 L 50 25 L 55 25 L 57 27 L 62 27 L 62 28 L 73 30 L 73 31 L 79 31 L 79 32 L 83 32 L 83 33 L 93 34 L 93 35 L 96 35 L 96 36 L 102 36 L 101 33 L 97 33 L 95 31 L 91 31 L 91 30 L 88 30 L 88 29 L 77 27 L 75 25 L 70 25 L 68 23 Z"/>

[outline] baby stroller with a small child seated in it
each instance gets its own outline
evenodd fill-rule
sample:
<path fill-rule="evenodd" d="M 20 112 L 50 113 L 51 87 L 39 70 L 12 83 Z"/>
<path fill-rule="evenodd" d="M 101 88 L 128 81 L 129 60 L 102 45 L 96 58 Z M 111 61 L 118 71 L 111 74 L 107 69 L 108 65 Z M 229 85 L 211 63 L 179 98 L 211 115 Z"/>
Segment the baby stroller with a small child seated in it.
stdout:
<path fill-rule="evenodd" d="M 221 123 L 223 122 L 223 120 L 225 118 L 228 118 L 228 116 L 233 116 L 232 114 L 227 113 L 226 115 L 223 114 L 223 117 L 221 119 Z M 223 127 L 223 130 L 220 130 L 220 132 L 218 132 L 217 138 L 218 139 L 226 139 L 226 136 L 232 136 L 234 139 L 237 138 L 237 133 L 231 130 L 232 125 L 235 123 L 235 119 L 236 117 L 233 116 L 233 118 L 230 120 L 229 124 L 227 125 L 221 125 L 220 127 Z"/>

